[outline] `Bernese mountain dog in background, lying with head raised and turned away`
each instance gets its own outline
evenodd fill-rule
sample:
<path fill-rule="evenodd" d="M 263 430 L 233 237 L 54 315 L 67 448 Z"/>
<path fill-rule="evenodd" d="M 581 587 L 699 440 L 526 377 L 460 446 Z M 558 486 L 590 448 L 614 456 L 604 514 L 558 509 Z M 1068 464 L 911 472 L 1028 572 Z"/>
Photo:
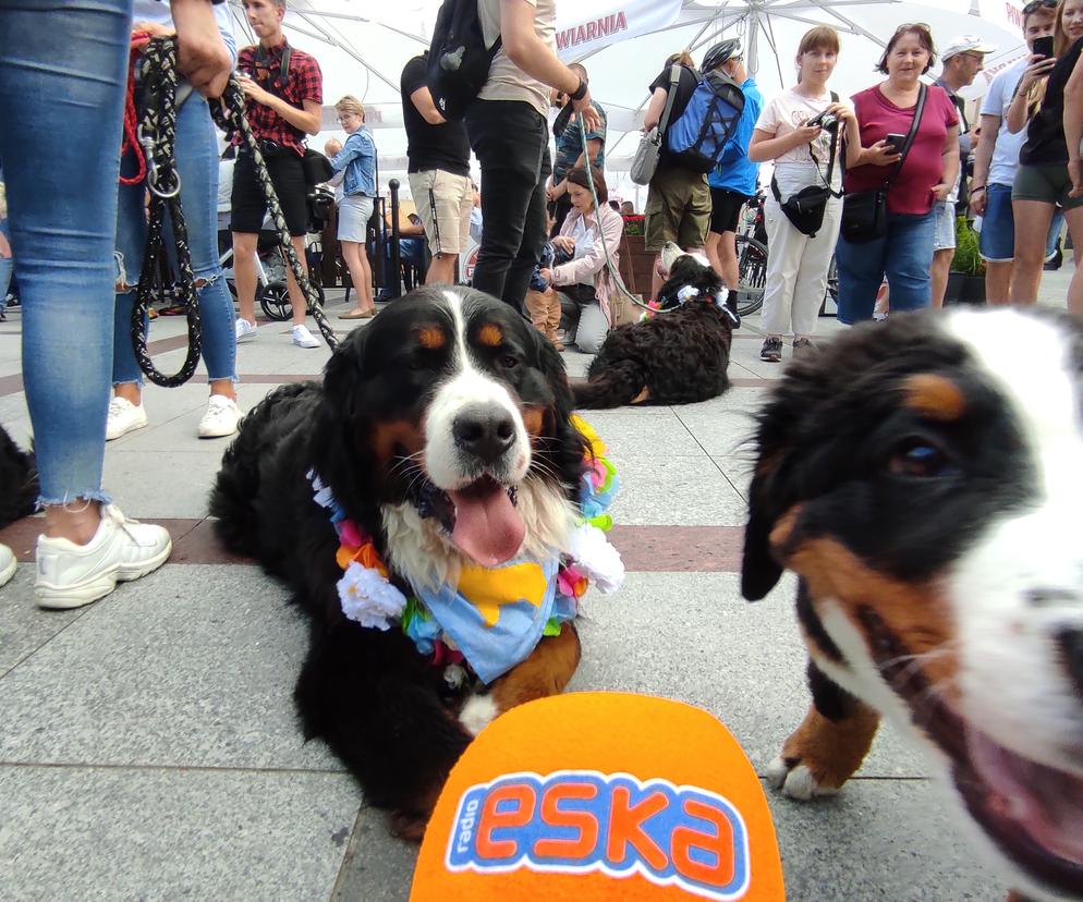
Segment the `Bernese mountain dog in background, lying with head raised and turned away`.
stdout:
<path fill-rule="evenodd" d="M 726 370 L 738 324 L 725 305 L 721 279 L 699 254 L 669 242 L 661 253 L 668 273 L 658 293 L 661 312 L 619 326 L 574 385 L 579 407 L 691 404 L 730 387 Z"/>

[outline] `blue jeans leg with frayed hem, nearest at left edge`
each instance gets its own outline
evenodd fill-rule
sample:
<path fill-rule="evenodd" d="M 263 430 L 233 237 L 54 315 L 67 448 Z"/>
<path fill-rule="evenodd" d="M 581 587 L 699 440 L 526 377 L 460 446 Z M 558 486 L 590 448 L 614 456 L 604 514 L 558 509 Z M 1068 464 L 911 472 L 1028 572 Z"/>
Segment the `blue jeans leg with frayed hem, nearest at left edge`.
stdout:
<path fill-rule="evenodd" d="M 131 21 L 131 0 L 0 3 L 0 162 L 46 504 L 108 500 L 101 463 Z M 47 160 L 27 138 L 48 142 Z"/>

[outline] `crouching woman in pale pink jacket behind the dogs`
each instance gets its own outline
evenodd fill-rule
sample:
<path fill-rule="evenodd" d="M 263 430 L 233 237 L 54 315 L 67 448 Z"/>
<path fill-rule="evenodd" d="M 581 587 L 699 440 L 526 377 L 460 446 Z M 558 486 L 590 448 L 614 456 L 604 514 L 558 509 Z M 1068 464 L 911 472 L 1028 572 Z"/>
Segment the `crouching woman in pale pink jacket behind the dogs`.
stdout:
<path fill-rule="evenodd" d="M 588 179 L 594 180 L 594 192 L 601 205 L 599 208 L 595 208 Z M 616 271 L 624 220 L 609 206 L 606 180 L 593 166 L 589 174 L 583 168 L 568 173 L 568 197 L 572 202 L 572 210 L 552 243 L 572 254 L 572 259 L 551 269 L 543 269 L 539 275 L 557 289 L 560 306 L 568 315 L 570 329 L 565 341 L 571 339 L 585 354 L 597 354 L 612 327 L 609 298 L 617 291 L 606 265 L 606 253 L 609 253 Z"/>

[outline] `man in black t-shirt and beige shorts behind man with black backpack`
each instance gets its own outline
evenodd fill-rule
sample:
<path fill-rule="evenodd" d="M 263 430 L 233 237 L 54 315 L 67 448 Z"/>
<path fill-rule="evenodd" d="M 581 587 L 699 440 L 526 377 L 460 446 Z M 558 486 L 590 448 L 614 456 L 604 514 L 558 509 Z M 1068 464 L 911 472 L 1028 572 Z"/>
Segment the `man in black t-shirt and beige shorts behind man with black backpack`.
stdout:
<path fill-rule="evenodd" d="M 448 122 L 426 84 L 428 51 L 402 70 L 402 119 L 406 129 L 410 193 L 425 227 L 433 263 L 425 284 L 455 281 L 455 259 L 466 249 L 474 194 L 470 141 L 462 122 Z"/>

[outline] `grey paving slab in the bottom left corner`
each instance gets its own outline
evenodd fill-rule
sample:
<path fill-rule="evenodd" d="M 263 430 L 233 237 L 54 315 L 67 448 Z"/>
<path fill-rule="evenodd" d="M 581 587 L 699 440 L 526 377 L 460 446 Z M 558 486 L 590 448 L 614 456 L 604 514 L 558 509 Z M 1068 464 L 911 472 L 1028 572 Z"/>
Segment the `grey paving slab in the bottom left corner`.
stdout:
<path fill-rule="evenodd" d="M 323 902 L 360 805 L 342 773 L 10 765 L 0 799 L 5 902 Z"/>

